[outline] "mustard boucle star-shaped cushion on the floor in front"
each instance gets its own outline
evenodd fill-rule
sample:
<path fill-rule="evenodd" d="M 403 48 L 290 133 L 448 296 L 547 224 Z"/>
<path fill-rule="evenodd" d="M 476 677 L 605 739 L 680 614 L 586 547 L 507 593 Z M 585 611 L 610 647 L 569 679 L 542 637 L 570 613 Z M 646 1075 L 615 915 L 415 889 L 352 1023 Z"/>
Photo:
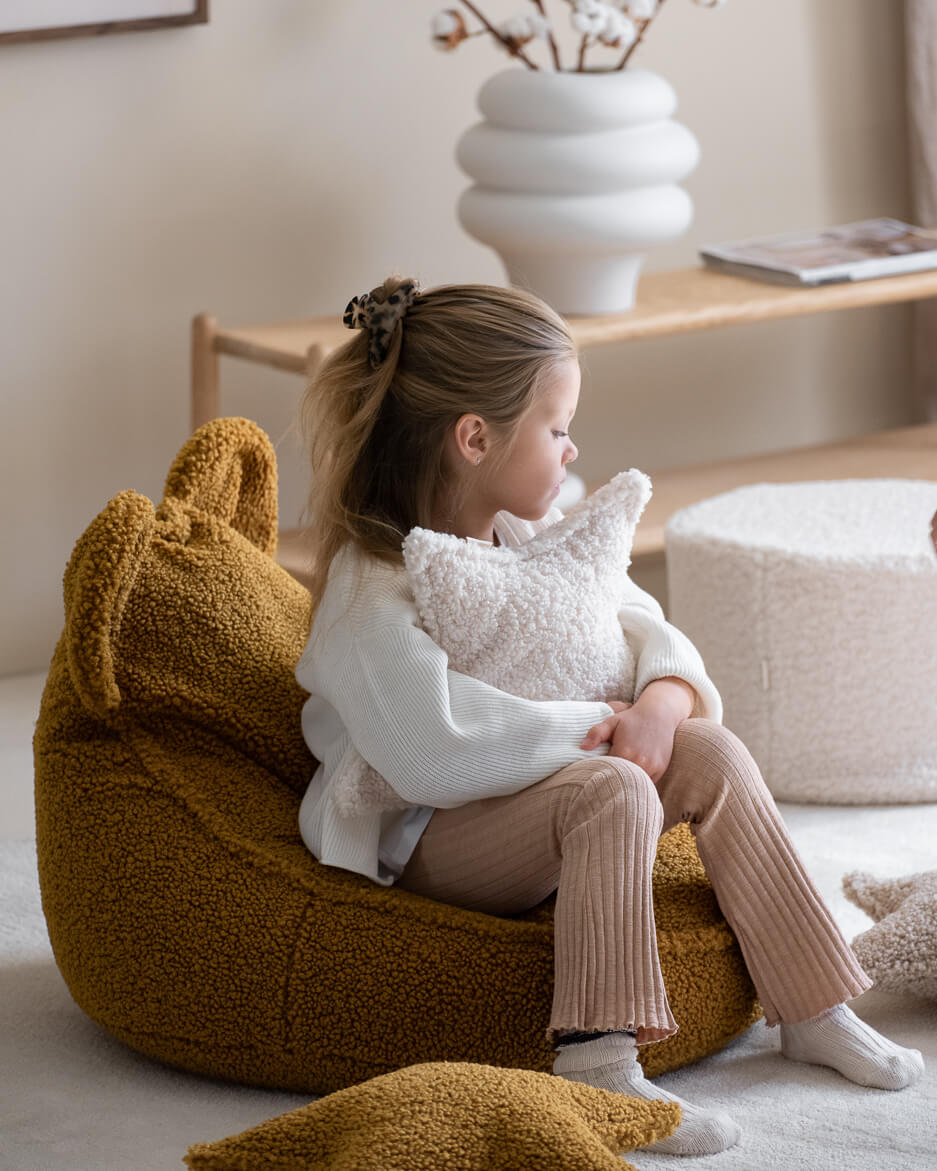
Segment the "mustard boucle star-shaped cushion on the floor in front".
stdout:
<path fill-rule="evenodd" d="M 620 1155 L 665 1138 L 678 1122 L 671 1102 L 437 1062 L 199 1143 L 185 1163 L 192 1171 L 634 1171 Z"/>

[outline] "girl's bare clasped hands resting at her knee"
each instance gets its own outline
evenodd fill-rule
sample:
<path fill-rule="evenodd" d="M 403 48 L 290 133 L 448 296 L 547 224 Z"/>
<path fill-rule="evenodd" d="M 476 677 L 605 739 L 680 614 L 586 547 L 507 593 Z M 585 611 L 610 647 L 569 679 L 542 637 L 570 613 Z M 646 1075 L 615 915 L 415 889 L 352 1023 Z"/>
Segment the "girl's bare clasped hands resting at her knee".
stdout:
<path fill-rule="evenodd" d="M 673 754 L 673 733 L 695 701 L 696 692 L 683 679 L 655 679 L 637 703 L 609 703 L 613 714 L 589 728 L 581 747 L 588 752 L 610 741 L 609 756 L 630 760 L 657 783 Z"/>

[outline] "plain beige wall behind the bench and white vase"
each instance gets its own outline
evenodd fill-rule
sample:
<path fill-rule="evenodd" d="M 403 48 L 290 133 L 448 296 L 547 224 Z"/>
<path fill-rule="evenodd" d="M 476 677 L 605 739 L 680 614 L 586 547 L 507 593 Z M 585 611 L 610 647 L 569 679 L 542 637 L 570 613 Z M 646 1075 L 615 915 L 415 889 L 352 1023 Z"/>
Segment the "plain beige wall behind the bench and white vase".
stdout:
<path fill-rule="evenodd" d="M 502 280 L 456 224 L 452 149 L 506 62 L 480 40 L 435 52 L 440 6 L 214 0 L 205 26 L 0 47 L 0 674 L 46 666 L 64 563 L 107 500 L 158 499 L 187 433 L 194 313 L 338 313 L 390 271 Z M 696 222 L 649 267 L 692 263 L 700 241 L 908 213 L 901 8 L 668 0 L 635 63 L 675 84 L 703 153 Z M 904 308 L 593 350 L 580 470 L 900 425 L 907 354 Z M 290 521 L 300 391 L 223 361 L 224 412 L 279 441 Z"/>

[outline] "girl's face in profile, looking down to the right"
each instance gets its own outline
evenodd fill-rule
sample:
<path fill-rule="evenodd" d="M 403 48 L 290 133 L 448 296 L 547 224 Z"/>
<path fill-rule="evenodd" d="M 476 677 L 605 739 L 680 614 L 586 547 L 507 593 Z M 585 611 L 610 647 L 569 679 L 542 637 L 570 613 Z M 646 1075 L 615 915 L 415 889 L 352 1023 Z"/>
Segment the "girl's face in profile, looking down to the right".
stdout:
<path fill-rule="evenodd" d="M 549 512 L 566 465 L 579 454 L 569 424 L 581 381 L 579 362 L 563 362 L 518 423 L 507 461 L 485 480 L 483 491 L 494 512 L 505 509 L 522 520 L 540 520 Z"/>

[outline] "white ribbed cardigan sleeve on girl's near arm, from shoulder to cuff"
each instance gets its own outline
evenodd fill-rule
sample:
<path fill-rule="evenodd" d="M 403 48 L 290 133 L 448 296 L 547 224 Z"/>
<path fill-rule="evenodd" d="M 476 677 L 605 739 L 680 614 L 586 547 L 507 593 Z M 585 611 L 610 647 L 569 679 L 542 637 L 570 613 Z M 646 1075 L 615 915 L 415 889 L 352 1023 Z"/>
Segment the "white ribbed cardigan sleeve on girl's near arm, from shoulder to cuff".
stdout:
<path fill-rule="evenodd" d="M 583 752 L 608 704 L 521 699 L 449 670 L 403 570 L 335 559 L 296 679 L 303 733 L 326 775 L 350 741 L 399 796 L 451 808 L 526 788 Z"/>

